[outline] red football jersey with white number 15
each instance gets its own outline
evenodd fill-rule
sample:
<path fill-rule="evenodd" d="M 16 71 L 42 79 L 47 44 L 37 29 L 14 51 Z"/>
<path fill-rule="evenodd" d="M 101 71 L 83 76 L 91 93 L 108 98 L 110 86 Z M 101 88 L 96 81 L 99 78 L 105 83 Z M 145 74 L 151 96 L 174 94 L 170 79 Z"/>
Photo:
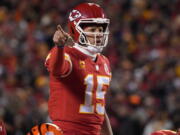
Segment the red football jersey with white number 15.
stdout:
<path fill-rule="evenodd" d="M 98 54 L 93 61 L 74 47 L 54 47 L 46 66 L 50 72 L 48 105 L 53 122 L 63 130 L 98 134 L 111 80 L 108 59 Z"/>

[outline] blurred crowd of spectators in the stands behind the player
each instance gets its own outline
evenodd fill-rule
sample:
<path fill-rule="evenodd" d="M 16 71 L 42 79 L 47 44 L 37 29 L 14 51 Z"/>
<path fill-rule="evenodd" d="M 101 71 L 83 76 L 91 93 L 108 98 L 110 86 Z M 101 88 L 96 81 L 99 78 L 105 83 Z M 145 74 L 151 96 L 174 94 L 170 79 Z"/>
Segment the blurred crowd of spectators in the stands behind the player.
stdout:
<path fill-rule="evenodd" d="M 85 0 L 0 1 L 0 120 L 24 135 L 47 113 L 44 61 L 57 24 Z M 180 127 L 180 1 L 102 0 L 111 19 L 104 54 L 112 66 L 107 112 L 114 135 Z"/>

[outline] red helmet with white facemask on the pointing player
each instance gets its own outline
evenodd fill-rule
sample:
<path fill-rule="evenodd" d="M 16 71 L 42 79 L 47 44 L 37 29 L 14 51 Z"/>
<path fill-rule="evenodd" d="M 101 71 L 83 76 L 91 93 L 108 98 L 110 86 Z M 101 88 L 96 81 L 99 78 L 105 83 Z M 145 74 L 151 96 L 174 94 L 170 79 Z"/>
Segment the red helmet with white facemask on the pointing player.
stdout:
<path fill-rule="evenodd" d="M 92 34 L 96 37 L 97 34 L 102 35 L 102 43 L 96 47 L 103 48 L 107 45 L 108 42 L 108 35 L 109 35 L 109 19 L 106 18 L 103 9 L 94 3 L 83 3 L 76 6 L 69 14 L 68 19 L 68 28 L 69 33 L 74 39 L 75 42 L 79 43 L 83 46 L 96 46 L 96 44 L 91 44 L 86 35 Z M 103 33 L 97 32 L 84 32 L 83 26 L 84 25 L 98 25 L 103 27 Z M 95 42 L 96 43 L 96 42 Z"/>

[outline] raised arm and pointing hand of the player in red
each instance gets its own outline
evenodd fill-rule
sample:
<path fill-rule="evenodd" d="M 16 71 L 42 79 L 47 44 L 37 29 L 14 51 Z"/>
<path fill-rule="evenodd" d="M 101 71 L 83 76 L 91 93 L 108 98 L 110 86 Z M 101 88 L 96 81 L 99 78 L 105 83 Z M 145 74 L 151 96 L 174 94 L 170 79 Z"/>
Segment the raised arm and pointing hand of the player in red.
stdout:
<path fill-rule="evenodd" d="M 54 76 L 65 75 L 71 70 L 72 64 L 69 55 L 65 53 L 64 46 L 72 46 L 72 38 L 58 25 L 53 36 L 53 41 L 56 46 L 46 59 L 48 70 Z"/>

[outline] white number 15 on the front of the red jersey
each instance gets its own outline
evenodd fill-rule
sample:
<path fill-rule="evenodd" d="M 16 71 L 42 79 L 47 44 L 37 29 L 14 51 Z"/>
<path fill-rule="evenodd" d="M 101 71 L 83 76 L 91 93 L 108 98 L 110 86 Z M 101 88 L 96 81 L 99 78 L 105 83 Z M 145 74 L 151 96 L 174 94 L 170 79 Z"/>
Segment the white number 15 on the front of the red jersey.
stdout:
<path fill-rule="evenodd" d="M 86 85 L 85 90 L 85 100 L 84 104 L 80 105 L 80 113 L 92 114 L 97 112 L 100 115 L 104 114 L 104 104 L 103 103 L 96 103 L 93 104 L 93 97 L 95 94 L 96 99 L 101 99 L 104 101 L 106 91 L 103 91 L 104 85 L 109 85 L 110 77 L 109 76 L 97 76 L 94 78 L 93 74 L 88 74 L 85 79 L 84 83 Z M 97 88 L 95 92 L 93 92 L 94 84 L 97 83 Z M 96 109 L 96 110 L 95 110 Z"/>

